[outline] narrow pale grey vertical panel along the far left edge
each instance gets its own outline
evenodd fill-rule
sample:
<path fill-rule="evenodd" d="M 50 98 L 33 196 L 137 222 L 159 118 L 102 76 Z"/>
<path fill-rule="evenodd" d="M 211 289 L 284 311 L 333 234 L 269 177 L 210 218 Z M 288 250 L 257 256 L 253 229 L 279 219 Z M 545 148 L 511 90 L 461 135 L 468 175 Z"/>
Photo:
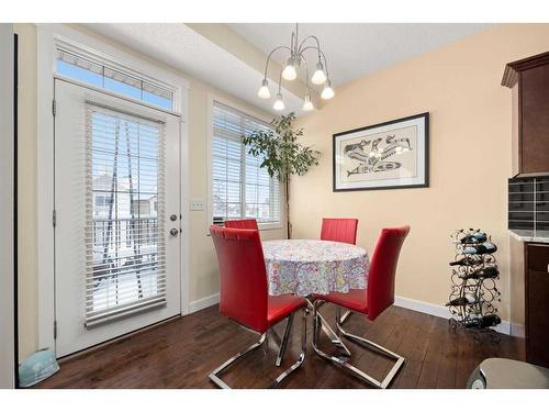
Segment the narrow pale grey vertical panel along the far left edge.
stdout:
<path fill-rule="evenodd" d="M 13 285 L 13 26 L 0 24 L 0 388 L 15 385 Z"/>

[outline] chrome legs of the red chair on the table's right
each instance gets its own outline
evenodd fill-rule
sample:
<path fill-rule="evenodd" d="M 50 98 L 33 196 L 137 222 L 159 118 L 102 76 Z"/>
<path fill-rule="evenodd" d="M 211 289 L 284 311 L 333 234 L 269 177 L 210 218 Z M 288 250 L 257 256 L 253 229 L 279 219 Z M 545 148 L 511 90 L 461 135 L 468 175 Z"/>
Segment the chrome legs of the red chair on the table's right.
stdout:
<path fill-rule="evenodd" d="M 315 313 L 317 314 L 317 313 Z M 368 341 L 363 337 L 360 337 L 360 336 L 357 336 L 357 335 L 354 335 L 354 334 L 350 334 L 348 333 L 347 331 L 345 331 L 341 326 L 341 324 L 349 318 L 350 315 L 350 312 L 346 312 L 343 316 L 341 316 L 341 313 L 340 313 L 340 309 L 338 308 L 337 310 L 337 314 L 336 314 L 336 325 L 337 325 L 337 331 L 344 336 L 344 337 L 347 337 L 351 341 L 355 341 L 357 342 L 358 344 L 360 344 L 361 346 L 368 348 L 368 349 L 373 349 L 374 352 L 377 353 L 380 353 L 386 357 L 390 357 L 394 360 L 396 360 L 396 363 L 393 365 L 393 367 L 391 368 L 391 370 L 389 371 L 389 374 L 385 376 L 385 378 L 380 382 L 379 380 L 372 378 L 371 376 L 369 376 L 368 374 L 363 372 L 362 370 L 358 369 L 357 367 L 350 365 L 347 363 L 347 359 L 343 359 L 343 358 L 338 358 L 338 357 L 335 357 L 335 356 L 330 356 L 330 355 L 327 355 L 325 354 L 324 352 L 320 350 L 318 347 L 317 347 L 317 341 L 313 341 L 313 348 L 315 349 L 315 352 L 323 358 L 325 359 L 328 359 L 328 360 L 332 360 L 334 361 L 335 364 L 346 368 L 347 370 L 349 370 L 352 375 L 355 375 L 356 377 L 358 377 L 359 379 L 361 380 L 365 380 L 366 382 L 374 386 L 376 388 L 380 388 L 380 389 L 385 389 L 389 387 L 389 385 L 391 385 L 391 381 L 394 379 L 394 377 L 396 376 L 396 372 L 400 370 L 400 368 L 402 367 L 402 365 L 404 364 L 404 358 L 386 348 L 384 348 L 383 346 L 381 345 L 378 345 L 377 343 L 373 343 L 371 341 Z M 317 320 L 314 320 L 313 321 L 314 324 L 316 325 L 316 322 Z M 315 335 L 313 334 L 313 337 L 315 337 Z M 317 338 L 317 337 L 316 337 Z"/>

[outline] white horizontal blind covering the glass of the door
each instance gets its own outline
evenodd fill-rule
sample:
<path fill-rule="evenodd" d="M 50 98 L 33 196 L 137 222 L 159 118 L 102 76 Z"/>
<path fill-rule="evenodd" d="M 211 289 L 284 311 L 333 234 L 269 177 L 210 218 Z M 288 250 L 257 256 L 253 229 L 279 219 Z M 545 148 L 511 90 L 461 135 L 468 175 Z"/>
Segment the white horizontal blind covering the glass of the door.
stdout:
<path fill-rule="evenodd" d="M 86 326 L 166 303 L 164 124 L 86 109 Z"/>

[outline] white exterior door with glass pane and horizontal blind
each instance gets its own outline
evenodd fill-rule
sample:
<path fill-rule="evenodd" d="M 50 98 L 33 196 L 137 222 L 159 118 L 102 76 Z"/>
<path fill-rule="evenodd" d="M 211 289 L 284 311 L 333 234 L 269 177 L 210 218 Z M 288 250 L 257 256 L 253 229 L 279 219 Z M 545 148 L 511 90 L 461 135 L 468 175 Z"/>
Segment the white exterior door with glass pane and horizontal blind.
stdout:
<path fill-rule="evenodd" d="M 179 118 L 55 80 L 57 356 L 181 312 Z"/>

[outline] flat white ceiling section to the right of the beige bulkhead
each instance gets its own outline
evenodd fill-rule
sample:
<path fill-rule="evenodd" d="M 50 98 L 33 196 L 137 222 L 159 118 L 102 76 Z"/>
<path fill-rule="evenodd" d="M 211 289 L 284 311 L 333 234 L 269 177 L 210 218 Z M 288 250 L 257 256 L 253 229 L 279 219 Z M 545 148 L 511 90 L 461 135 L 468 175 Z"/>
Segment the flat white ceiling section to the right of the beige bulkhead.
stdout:
<path fill-rule="evenodd" d="M 279 45 L 290 45 L 290 23 L 233 23 L 229 26 L 248 42 L 269 53 Z M 460 37 L 477 33 L 490 24 L 434 23 L 302 23 L 299 37 L 314 34 L 328 60 L 335 86 L 381 70 Z M 314 52 L 311 53 L 311 64 Z M 273 58 L 285 63 L 279 52 Z"/>

